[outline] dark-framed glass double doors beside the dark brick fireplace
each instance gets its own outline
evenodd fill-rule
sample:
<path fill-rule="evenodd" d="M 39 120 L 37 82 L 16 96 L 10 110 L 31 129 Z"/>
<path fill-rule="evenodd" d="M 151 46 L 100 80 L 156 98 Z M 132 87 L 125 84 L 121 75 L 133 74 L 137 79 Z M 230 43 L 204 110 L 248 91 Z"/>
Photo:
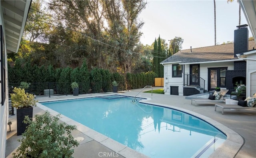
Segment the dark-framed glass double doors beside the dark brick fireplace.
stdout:
<path fill-rule="evenodd" d="M 226 87 L 227 68 L 208 68 L 208 90 Z"/>

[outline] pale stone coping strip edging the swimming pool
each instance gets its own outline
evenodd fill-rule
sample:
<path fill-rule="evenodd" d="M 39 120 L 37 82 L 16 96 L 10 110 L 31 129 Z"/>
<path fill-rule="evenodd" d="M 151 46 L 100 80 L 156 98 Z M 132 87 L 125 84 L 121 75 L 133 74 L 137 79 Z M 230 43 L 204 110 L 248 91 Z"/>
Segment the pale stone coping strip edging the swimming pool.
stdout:
<path fill-rule="evenodd" d="M 130 96 L 130 95 L 122 95 L 122 94 L 108 94 L 108 95 L 104 95 L 104 96 L 112 96 L 112 95 Z M 98 96 L 102 96 L 102 95 L 98 95 Z M 50 114 L 52 114 L 53 116 L 56 116 L 57 114 L 59 114 L 58 112 L 56 112 L 50 108 L 47 108 L 46 106 L 44 106 L 40 103 L 63 101 L 63 100 L 75 100 L 75 99 L 82 99 L 82 98 L 94 98 L 94 97 L 97 97 L 97 96 L 87 96 L 87 97 L 83 96 L 83 97 L 77 97 L 77 98 L 71 98 L 71 99 L 70 98 L 69 99 L 55 99 L 55 100 L 51 100 L 51 101 L 41 101 L 36 104 L 42 110 L 45 110 L 45 111 L 48 110 L 50 112 Z M 134 96 L 130 96 L 130 97 L 134 97 Z M 151 100 L 151 98 L 148 98 L 148 97 L 137 97 L 137 98 L 145 98 L 145 100 L 140 100 L 140 102 L 142 102 L 142 103 L 156 105 L 156 106 L 162 106 L 162 107 L 166 107 L 166 108 L 172 108 L 172 109 L 180 110 L 182 112 L 186 112 L 188 114 L 196 116 L 196 117 L 212 124 L 212 126 L 218 128 L 221 132 L 226 134 L 227 139 L 218 148 L 216 148 L 216 150 L 209 156 L 209 158 L 234 157 L 234 156 L 236 156 L 236 154 L 238 153 L 238 151 L 244 144 L 244 139 L 242 138 L 242 136 L 240 136 L 240 134 L 234 132 L 233 130 L 224 126 L 223 124 L 220 124 L 219 122 L 217 122 L 211 118 L 208 118 L 202 114 L 198 114 L 196 112 L 186 110 L 183 108 L 178 108 L 176 106 L 150 103 L 148 101 Z M 92 138 L 96 142 L 106 146 L 110 150 L 113 150 L 114 152 L 120 154 L 121 156 L 124 156 L 126 158 L 129 158 L 129 157 L 146 158 L 146 157 L 148 157 L 148 156 L 141 154 L 140 152 L 137 152 L 137 151 L 133 150 L 132 148 L 129 148 L 128 146 L 125 146 L 125 145 L 123 145 L 123 144 L 103 135 L 103 134 L 100 134 L 99 132 L 96 132 L 95 130 L 92 130 L 92 129 L 88 128 L 87 126 L 84 126 L 84 125 L 82 125 L 82 124 L 62 115 L 62 114 L 60 115 L 60 120 L 63 122 L 66 122 L 66 124 L 75 125 L 77 127 L 78 131 L 80 131 L 83 134 L 85 134 L 86 136 Z"/>

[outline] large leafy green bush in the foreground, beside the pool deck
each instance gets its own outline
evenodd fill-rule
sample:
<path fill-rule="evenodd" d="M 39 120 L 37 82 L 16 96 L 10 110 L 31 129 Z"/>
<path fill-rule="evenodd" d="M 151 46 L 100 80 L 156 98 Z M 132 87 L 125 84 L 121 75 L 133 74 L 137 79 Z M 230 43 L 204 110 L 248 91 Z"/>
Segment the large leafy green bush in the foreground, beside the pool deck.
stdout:
<path fill-rule="evenodd" d="M 21 144 L 13 157 L 71 158 L 74 153 L 71 148 L 79 145 L 71 134 L 76 126 L 59 123 L 59 118 L 60 114 L 50 116 L 48 111 L 35 115 L 34 121 L 26 116 L 24 122 L 28 128 L 18 140 Z"/>

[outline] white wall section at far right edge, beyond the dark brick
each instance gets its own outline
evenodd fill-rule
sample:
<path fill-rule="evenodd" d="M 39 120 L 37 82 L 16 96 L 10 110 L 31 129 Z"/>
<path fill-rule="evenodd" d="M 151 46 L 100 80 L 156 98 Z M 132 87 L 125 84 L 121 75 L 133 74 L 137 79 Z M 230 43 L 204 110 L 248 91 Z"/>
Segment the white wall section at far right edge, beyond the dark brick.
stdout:
<path fill-rule="evenodd" d="M 247 55 L 248 59 L 256 59 L 256 53 Z M 256 60 L 246 60 L 246 96 L 256 93 Z"/>

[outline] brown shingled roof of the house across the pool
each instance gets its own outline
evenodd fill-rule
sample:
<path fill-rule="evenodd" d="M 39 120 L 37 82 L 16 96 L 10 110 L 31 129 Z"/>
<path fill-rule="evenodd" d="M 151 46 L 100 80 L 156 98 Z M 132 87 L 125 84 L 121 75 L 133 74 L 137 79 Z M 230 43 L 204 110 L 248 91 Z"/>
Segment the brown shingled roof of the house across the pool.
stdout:
<path fill-rule="evenodd" d="M 253 41 L 249 41 L 248 50 L 256 48 Z M 207 46 L 200 48 L 180 50 L 169 58 L 161 62 L 161 64 L 168 62 L 190 63 L 190 62 L 211 62 L 217 60 L 233 60 L 234 58 L 234 43 L 221 44 L 216 46 Z"/>

